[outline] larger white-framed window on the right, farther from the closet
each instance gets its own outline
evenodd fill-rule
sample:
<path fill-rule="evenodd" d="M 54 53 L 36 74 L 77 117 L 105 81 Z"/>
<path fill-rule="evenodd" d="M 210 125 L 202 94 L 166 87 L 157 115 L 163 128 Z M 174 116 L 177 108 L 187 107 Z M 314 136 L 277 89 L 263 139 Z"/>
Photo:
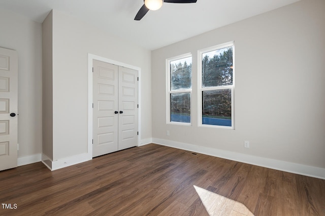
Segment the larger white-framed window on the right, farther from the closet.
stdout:
<path fill-rule="evenodd" d="M 199 51 L 199 124 L 234 126 L 234 44 Z"/>

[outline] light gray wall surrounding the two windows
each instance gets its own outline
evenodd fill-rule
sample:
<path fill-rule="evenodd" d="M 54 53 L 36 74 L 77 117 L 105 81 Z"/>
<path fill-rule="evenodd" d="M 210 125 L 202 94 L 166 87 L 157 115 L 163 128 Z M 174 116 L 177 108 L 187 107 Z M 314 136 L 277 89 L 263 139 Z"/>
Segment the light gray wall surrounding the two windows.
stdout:
<path fill-rule="evenodd" d="M 324 11 L 304 0 L 153 51 L 153 140 L 325 168 Z M 198 50 L 233 40 L 236 128 L 198 127 Z M 189 52 L 192 125 L 167 124 L 166 59 Z"/>

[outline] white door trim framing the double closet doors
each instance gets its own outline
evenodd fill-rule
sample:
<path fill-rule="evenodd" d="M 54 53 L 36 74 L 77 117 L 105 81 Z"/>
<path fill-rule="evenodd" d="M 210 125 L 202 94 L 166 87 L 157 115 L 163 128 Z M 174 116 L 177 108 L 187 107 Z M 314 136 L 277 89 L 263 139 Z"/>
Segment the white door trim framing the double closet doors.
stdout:
<path fill-rule="evenodd" d="M 139 82 L 138 82 L 138 104 L 139 107 L 141 103 L 141 68 L 129 64 L 125 64 L 123 62 L 115 61 L 112 59 L 108 59 L 105 57 L 101 56 L 96 56 L 93 54 L 88 53 L 88 157 L 91 160 L 92 159 L 92 61 L 93 60 L 98 60 L 102 62 L 106 62 L 109 64 L 114 64 L 117 66 L 121 67 L 126 67 L 130 69 L 134 69 L 138 71 L 138 77 L 139 77 Z M 141 109 L 138 109 L 138 145 L 140 143 L 140 137 L 141 137 Z"/>

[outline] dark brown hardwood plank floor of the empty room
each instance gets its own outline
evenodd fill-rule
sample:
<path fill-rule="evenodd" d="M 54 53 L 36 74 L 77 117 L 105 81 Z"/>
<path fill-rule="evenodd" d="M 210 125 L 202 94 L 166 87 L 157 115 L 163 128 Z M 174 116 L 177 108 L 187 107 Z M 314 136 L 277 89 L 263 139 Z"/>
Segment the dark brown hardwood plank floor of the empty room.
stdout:
<path fill-rule="evenodd" d="M 4 170 L 0 187 L 0 215 L 325 215 L 325 180 L 155 144 Z"/>

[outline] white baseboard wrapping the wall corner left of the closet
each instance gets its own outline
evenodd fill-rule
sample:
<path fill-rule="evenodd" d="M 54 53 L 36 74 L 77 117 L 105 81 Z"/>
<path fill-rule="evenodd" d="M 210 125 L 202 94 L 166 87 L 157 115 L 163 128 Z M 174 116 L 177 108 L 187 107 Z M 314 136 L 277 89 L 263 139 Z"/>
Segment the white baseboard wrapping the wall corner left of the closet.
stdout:
<path fill-rule="evenodd" d="M 42 162 L 50 169 L 50 170 L 56 170 L 60 168 L 64 168 L 67 166 L 75 165 L 77 163 L 82 163 L 88 160 L 91 160 L 92 157 L 89 157 L 88 153 L 74 155 L 71 157 L 61 158 L 52 161 L 49 157 L 46 155 L 42 155 Z"/>

